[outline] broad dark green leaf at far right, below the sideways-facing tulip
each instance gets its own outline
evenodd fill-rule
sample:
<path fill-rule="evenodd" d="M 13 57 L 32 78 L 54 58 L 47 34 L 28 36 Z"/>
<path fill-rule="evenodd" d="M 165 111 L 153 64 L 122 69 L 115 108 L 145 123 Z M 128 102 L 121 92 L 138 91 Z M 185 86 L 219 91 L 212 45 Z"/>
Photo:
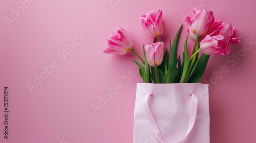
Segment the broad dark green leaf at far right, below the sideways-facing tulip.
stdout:
<path fill-rule="evenodd" d="M 210 55 L 203 54 L 201 56 L 201 58 L 199 59 L 200 61 L 197 65 L 197 67 L 195 68 L 194 73 L 191 75 L 191 77 L 188 79 L 187 82 L 198 83 L 200 81 L 200 79 L 204 75 L 204 71 L 205 71 L 205 68 L 206 68 L 209 58 L 210 58 Z"/>

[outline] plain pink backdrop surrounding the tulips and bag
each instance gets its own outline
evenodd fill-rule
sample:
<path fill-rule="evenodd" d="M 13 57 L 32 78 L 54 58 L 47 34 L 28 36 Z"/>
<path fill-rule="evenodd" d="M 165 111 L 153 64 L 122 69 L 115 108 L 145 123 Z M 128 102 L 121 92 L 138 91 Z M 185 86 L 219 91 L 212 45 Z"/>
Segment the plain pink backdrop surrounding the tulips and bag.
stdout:
<path fill-rule="evenodd" d="M 136 83 L 142 80 L 131 59 L 138 59 L 132 53 L 104 54 L 106 39 L 122 27 L 134 38 L 134 49 L 142 54 L 143 43 L 152 39 L 146 36 L 139 17 L 162 9 L 162 39 L 168 45 L 177 32 L 176 25 L 195 6 L 212 10 L 216 20 L 232 23 L 242 36 L 240 44 L 230 46 L 230 55 L 210 57 L 201 80 L 211 81 L 210 142 L 256 142 L 254 1 L 113 0 L 118 3 L 113 8 L 109 2 L 38 0 L 30 2 L 25 11 L 17 0 L 0 2 L 1 142 L 133 142 Z M 17 8 L 24 13 L 16 15 L 8 27 L 4 17 L 11 18 L 12 9 Z M 187 35 L 185 29 L 186 25 L 180 48 Z M 58 57 L 80 33 L 87 38 L 66 59 Z M 189 46 L 192 42 L 189 39 Z M 232 54 L 238 54 L 237 59 Z M 34 75 L 44 73 L 42 66 L 54 61 L 58 67 L 30 92 L 27 83 L 32 84 Z M 222 66 L 228 68 L 228 73 L 220 74 Z M 92 105 L 98 105 L 99 98 L 117 83 L 122 89 L 95 114 Z M 9 139 L 3 134 L 4 86 L 9 88 Z"/>

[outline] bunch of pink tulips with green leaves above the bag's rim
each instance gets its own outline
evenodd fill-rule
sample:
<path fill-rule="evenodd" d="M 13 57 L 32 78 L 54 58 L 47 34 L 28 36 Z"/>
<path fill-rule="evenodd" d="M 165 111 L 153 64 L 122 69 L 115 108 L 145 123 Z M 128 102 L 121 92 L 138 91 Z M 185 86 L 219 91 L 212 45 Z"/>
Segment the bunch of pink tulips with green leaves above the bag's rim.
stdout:
<path fill-rule="evenodd" d="M 215 21 L 212 11 L 194 9 L 194 15 L 187 16 L 186 22 L 188 35 L 195 40 L 195 44 L 188 56 L 187 35 L 182 62 L 181 57 L 177 56 L 182 25 L 173 44 L 169 44 L 168 54 L 160 38 L 164 32 L 162 10 L 151 11 L 140 17 L 146 34 L 153 38 L 153 43 L 143 45 L 144 59 L 133 49 L 132 37 L 122 28 L 117 28 L 110 35 L 107 40 L 109 47 L 103 52 L 123 55 L 132 51 L 141 61 L 133 60 L 139 66 L 140 76 L 145 83 L 197 83 L 204 74 L 210 55 L 228 55 L 228 45 L 239 43 L 240 37 L 237 37 L 238 30 L 231 24 Z"/>

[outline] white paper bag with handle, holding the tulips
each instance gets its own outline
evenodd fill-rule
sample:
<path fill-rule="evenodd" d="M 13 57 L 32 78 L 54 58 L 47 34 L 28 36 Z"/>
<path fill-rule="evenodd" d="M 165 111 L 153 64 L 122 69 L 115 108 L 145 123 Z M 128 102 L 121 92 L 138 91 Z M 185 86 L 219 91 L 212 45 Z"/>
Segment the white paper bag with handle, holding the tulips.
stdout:
<path fill-rule="evenodd" d="M 207 84 L 138 83 L 134 143 L 209 143 Z"/>

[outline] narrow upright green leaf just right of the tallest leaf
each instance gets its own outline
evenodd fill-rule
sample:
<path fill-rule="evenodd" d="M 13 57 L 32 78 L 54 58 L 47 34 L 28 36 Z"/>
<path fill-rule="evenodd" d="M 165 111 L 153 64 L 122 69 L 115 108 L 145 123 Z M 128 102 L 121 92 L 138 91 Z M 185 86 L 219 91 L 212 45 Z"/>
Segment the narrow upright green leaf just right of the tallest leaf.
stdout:
<path fill-rule="evenodd" d="M 188 35 L 187 35 L 188 37 Z M 183 53 L 183 70 L 182 70 L 182 75 L 181 75 L 181 79 L 180 82 L 183 83 L 185 80 L 185 77 L 187 76 L 187 70 L 188 70 L 188 66 L 189 66 L 189 59 L 188 59 L 188 54 L 187 54 L 187 38 L 185 41 L 185 45 L 184 45 L 184 53 Z"/>

